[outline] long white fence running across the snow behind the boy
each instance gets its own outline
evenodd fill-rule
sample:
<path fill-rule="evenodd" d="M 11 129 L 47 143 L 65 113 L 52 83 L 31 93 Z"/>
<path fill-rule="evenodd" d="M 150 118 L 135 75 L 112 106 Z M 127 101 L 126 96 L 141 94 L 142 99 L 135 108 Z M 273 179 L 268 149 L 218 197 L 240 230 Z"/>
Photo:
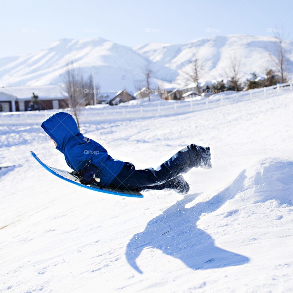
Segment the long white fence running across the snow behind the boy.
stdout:
<path fill-rule="evenodd" d="M 144 104 L 142 106 L 120 105 L 82 108 L 80 122 L 132 120 L 186 114 L 231 103 L 239 103 L 252 99 L 266 99 L 270 96 L 282 95 L 292 91 L 292 85 L 293 81 L 261 89 L 232 93 L 230 95 L 225 95 L 225 93 L 215 94 L 201 100 L 166 101 L 159 105 Z M 70 112 L 69 109 L 65 111 Z M 42 123 L 42 121 L 55 112 L 56 110 L 0 113 L 0 123 L 2 125 Z"/>

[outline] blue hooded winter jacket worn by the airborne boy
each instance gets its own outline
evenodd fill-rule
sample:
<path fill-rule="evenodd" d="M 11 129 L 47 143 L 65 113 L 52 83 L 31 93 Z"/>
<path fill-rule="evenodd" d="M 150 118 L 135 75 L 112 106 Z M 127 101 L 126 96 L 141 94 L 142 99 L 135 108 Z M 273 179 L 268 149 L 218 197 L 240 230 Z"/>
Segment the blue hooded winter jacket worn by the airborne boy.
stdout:
<path fill-rule="evenodd" d="M 99 169 L 100 183 L 107 187 L 118 175 L 124 162 L 114 160 L 99 143 L 89 139 L 78 130 L 74 118 L 65 112 L 58 112 L 45 120 L 41 127 L 57 143 L 57 150 L 65 156 L 67 165 L 74 171 L 91 164 Z"/>

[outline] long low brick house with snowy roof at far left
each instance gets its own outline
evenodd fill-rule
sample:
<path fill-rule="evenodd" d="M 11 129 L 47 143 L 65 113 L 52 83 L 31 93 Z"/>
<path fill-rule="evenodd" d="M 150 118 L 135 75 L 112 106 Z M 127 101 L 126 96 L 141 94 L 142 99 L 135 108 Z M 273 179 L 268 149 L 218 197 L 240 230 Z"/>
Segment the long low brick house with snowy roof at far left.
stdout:
<path fill-rule="evenodd" d="M 6 86 L 0 92 L 3 111 L 27 111 L 33 93 L 38 96 L 42 110 L 68 107 L 67 94 L 61 85 Z"/>

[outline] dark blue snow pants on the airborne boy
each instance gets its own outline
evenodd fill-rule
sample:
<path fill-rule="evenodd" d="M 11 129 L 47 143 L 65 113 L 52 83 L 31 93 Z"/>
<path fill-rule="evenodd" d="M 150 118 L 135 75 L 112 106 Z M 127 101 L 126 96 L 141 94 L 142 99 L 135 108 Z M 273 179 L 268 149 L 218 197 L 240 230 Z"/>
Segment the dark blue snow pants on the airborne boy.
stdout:
<path fill-rule="evenodd" d="M 136 170 L 132 163 L 125 162 L 124 167 L 111 182 L 110 187 L 137 191 L 172 188 L 174 183 L 179 180 L 176 178 L 178 175 L 187 173 L 191 168 L 197 168 L 201 165 L 201 159 L 205 156 L 205 151 L 204 147 L 190 144 L 179 150 L 157 169 Z"/>

